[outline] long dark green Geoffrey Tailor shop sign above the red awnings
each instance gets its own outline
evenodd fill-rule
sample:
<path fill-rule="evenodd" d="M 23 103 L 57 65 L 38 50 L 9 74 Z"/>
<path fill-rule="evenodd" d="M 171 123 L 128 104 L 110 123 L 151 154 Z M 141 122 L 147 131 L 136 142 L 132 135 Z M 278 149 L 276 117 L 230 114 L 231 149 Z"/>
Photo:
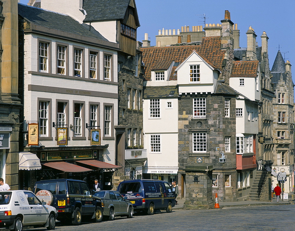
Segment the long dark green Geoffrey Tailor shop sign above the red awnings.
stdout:
<path fill-rule="evenodd" d="M 90 151 L 68 151 L 68 152 L 47 152 L 41 153 L 41 161 L 45 160 L 79 160 L 93 158 Z"/>

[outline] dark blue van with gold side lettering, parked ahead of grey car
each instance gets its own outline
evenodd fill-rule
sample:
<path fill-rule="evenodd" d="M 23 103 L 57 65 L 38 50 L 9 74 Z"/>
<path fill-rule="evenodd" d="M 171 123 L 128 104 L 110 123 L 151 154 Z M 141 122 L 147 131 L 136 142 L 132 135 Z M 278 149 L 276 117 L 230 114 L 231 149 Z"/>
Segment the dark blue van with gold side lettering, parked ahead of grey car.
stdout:
<path fill-rule="evenodd" d="M 134 211 L 145 211 L 148 215 L 152 215 L 155 209 L 172 212 L 172 207 L 175 206 L 174 193 L 165 181 L 144 179 L 122 181 L 117 191 L 133 204 Z"/>

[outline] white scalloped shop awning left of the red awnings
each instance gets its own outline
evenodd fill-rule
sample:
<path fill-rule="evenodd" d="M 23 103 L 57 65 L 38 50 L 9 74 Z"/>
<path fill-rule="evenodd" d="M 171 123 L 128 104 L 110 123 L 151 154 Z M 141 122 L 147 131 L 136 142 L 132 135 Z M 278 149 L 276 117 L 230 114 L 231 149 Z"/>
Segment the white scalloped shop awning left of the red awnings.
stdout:
<path fill-rule="evenodd" d="M 19 153 L 19 170 L 41 169 L 41 163 L 36 154 L 30 152 Z"/>

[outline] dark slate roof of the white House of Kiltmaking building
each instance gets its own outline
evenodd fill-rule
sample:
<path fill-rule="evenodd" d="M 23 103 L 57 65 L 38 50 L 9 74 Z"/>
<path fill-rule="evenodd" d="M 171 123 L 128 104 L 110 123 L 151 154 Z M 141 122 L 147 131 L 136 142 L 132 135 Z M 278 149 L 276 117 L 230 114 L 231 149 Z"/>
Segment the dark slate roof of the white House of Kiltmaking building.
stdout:
<path fill-rule="evenodd" d="M 95 31 L 95 34 L 92 33 L 88 28 L 65 14 L 20 3 L 18 4 L 18 14 L 38 26 L 108 41 L 99 32 Z"/>

